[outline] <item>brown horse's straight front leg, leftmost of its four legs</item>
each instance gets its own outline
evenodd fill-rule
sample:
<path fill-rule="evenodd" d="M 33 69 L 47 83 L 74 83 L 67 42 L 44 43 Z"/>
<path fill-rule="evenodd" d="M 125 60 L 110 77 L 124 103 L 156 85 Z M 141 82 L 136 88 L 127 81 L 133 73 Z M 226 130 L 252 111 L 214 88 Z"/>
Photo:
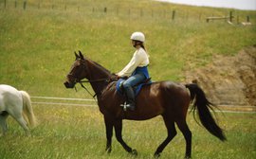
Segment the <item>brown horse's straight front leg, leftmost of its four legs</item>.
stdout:
<path fill-rule="evenodd" d="M 111 152 L 112 150 L 112 136 L 113 136 L 113 121 L 111 119 L 108 119 L 107 116 L 104 115 L 104 121 L 105 121 L 105 127 L 106 127 L 106 138 L 107 138 L 107 143 L 106 143 L 106 151 L 108 153 Z"/>

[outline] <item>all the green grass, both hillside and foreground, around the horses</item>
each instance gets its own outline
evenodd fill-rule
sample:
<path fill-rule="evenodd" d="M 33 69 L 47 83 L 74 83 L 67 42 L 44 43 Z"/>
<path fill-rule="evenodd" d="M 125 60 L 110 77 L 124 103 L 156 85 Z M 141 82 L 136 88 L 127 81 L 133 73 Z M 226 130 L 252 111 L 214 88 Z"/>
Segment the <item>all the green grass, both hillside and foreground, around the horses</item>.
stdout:
<path fill-rule="evenodd" d="M 91 60 L 118 72 L 134 52 L 129 37 L 137 30 L 146 34 L 154 80 L 183 81 L 184 70 L 204 66 L 214 54 L 233 56 L 255 44 L 256 11 L 232 10 L 241 22 L 249 15 L 253 24 L 232 26 L 205 21 L 207 16 L 228 15 L 229 9 L 148 0 L 29 0 L 27 9 L 21 1 L 16 8 L 15 0 L 7 0 L 6 7 L 4 2 L 0 0 L 0 83 L 26 90 L 30 96 L 90 97 L 80 87 L 77 93 L 64 88 L 73 52 L 80 49 Z M 34 105 L 34 112 L 39 125 L 31 137 L 9 118 L 9 133 L 0 138 L 0 158 L 134 158 L 116 139 L 112 153 L 104 152 L 104 125 L 95 107 Z M 256 158 L 256 115 L 217 115 L 228 142 L 218 141 L 188 115 L 192 157 Z M 123 127 L 125 141 L 137 149 L 141 159 L 153 158 L 166 136 L 160 117 L 124 121 Z M 178 132 L 162 158 L 183 158 L 184 150 L 185 140 Z"/>

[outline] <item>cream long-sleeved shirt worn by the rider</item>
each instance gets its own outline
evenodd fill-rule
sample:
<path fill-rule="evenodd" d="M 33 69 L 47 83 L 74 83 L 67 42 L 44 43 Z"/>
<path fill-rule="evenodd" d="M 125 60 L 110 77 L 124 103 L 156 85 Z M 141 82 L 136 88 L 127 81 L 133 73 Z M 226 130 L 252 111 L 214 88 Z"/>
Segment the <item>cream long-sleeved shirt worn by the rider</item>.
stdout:
<path fill-rule="evenodd" d="M 119 77 L 129 77 L 133 74 L 137 67 L 144 67 L 149 64 L 149 56 L 146 51 L 140 47 L 134 53 L 131 61 L 118 73 Z"/>

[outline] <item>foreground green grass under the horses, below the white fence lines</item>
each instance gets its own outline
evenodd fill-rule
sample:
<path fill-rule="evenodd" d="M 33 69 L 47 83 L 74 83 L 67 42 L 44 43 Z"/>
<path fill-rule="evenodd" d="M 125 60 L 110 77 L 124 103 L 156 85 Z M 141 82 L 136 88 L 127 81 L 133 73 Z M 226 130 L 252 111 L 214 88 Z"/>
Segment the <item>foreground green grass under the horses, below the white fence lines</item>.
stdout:
<path fill-rule="evenodd" d="M 96 107 L 34 105 L 39 125 L 27 137 L 9 117 L 9 132 L 0 138 L 1 158 L 134 158 L 113 136 L 113 150 L 106 154 L 103 117 Z M 192 131 L 192 158 L 253 159 L 256 157 L 255 114 L 219 114 L 219 125 L 228 141 L 221 142 L 188 115 Z M 115 134 L 115 133 L 114 133 Z M 138 159 L 153 158 L 157 146 L 166 137 L 161 117 L 147 121 L 123 122 L 123 138 L 138 151 Z M 161 158 L 183 158 L 185 140 L 181 132 L 163 151 Z"/>

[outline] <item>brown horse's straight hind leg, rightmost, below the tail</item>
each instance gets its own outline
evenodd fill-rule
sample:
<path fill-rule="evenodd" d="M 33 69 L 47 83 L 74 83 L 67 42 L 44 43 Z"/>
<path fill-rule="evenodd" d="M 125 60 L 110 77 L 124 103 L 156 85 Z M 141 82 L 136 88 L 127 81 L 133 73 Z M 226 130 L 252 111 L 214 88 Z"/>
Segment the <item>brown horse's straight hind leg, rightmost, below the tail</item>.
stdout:
<path fill-rule="evenodd" d="M 192 132 L 190 131 L 186 119 L 176 122 L 179 130 L 183 133 L 186 140 L 185 158 L 192 157 Z"/>

